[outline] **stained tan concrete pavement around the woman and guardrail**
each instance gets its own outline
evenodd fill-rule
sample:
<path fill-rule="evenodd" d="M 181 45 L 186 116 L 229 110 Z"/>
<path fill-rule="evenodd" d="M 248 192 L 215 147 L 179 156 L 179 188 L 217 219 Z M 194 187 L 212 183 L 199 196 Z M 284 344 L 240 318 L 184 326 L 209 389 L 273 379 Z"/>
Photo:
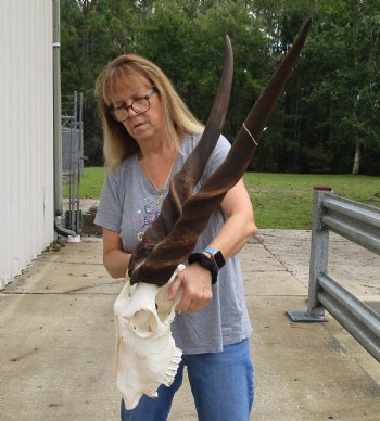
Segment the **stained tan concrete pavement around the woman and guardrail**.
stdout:
<path fill-rule="evenodd" d="M 263 230 L 240 253 L 255 327 L 252 420 L 380 420 L 380 365 L 331 317 L 286 315 L 306 308 L 309 240 Z M 110 279 L 101 250 L 84 241 L 46 252 L 0 292 L 1 421 L 118 420 L 112 307 L 122 280 Z M 331 235 L 329 260 L 332 278 L 379 311 L 380 256 Z M 169 420 L 197 420 L 188 383 Z"/>

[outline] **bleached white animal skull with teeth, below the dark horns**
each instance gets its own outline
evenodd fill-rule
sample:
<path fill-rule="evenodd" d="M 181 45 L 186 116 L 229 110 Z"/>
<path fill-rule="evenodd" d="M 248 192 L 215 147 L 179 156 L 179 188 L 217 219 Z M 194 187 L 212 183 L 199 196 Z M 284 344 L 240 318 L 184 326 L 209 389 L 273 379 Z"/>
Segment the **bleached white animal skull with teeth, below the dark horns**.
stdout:
<path fill-rule="evenodd" d="M 116 384 L 127 409 L 134 409 L 143 394 L 157 397 L 161 384 L 169 386 L 182 352 L 176 347 L 170 324 L 181 291 L 168 299 L 168 290 L 179 265 L 164 286 L 139 282 L 124 285 L 114 304 L 116 330 Z"/>

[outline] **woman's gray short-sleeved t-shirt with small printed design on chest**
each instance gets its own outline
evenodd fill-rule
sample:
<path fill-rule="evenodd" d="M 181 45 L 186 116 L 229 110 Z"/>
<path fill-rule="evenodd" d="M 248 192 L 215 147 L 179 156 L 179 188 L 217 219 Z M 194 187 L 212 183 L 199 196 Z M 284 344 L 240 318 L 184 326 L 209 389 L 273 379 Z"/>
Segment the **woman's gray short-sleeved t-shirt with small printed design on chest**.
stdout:
<path fill-rule="evenodd" d="M 199 135 L 183 136 L 182 153 L 178 154 L 173 174 L 179 171 L 199 139 Z M 229 142 L 221 136 L 194 191 L 224 162 L 229 149 Z M 94 224 L 119 232 L 124 250 L 134 253 L 145 229 L 160 215 L 159 196 L 155 188 L 144 177 L 137 154 L 129 156 L 116 173 L 109 171 Z M 200 235 L 195 252 L 202 252 L 212 242 L 225 221 L 226 216 L 219 208 L 211 216 L 206 229 Z M 172 331 L 176 345 L 183 354 L 217 353 L 223 350 L 223 345 L 249 337 L 252 328 L 238 256 L 229 258 L 220 269 L 208 306 L 200 312 L 178 314 Z"/>

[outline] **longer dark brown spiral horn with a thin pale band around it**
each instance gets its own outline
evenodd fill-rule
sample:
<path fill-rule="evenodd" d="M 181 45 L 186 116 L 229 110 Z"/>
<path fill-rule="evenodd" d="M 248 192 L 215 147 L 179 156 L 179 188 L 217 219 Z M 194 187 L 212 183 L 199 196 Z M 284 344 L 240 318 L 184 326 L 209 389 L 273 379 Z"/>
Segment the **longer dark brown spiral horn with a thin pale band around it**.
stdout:
<path fill-rule="evenodd" d="M 220 167 L 212 174 L 201 190 L 189 196 L 182 214 L 170 232 L 141 263 L 130 268 L 131 282 L 165 284 L 177 265 L 193 251 L 210 216 L 218 208 L 228 190 L 243 176 L 258 145 L 258 140 L 277 103 L 288 77 L 306 40 L 312 18 L 308 18 L 291 50 L 249 113 L 232 148 Z"/>

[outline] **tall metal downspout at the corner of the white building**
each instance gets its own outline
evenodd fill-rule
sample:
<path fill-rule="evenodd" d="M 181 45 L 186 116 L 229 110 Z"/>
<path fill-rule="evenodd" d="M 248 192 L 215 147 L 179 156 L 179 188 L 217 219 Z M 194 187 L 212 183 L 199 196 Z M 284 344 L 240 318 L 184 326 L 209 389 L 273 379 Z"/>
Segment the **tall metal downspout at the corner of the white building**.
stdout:
<path fill-rule="evenodd" d="M 53 1 L 53 144 L 54 144 L 54 230 L 76 238 L 76 232 L 62 227 L 62 123 L 61 123 L 61 37 L 60 0 Z"/>

